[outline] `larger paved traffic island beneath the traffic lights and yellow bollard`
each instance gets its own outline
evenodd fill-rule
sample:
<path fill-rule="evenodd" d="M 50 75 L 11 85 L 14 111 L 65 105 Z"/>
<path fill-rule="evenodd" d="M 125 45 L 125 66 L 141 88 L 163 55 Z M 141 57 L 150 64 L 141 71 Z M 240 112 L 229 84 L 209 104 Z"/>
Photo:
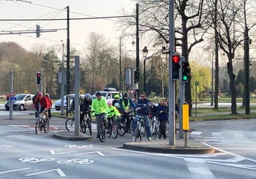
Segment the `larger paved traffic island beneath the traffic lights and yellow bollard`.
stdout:
<path fill-rule="evenodd" d="M 176 145 L 169 145 L 168 140 L 152 140 L 124 143 L 123 148 L 152 153 L 203 154 L 215 152 L 214 148 L 191 139 L 187 140 L 187 148 L 185 148 L 184 139 L 180 138 L 176 139 Z"/>

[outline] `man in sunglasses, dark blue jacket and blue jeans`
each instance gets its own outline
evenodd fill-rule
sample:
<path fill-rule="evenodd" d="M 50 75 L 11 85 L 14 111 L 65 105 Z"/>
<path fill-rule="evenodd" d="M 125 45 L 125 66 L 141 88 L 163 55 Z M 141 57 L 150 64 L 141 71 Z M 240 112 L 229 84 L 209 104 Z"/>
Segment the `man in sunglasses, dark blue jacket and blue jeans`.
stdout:
<path fill-rule="evenodd" d="M 146 134 L 148 137 L 148 140 L 151 140 L 151 132 L 149 128 L 149 122 L 148 122 L 148 114 L 150 113 L 150 102 L 148 99 L 146 99 L 146 93 L 142 92 L 140 94 L 140 99 L 138 99 L 138 102 L 136 104 L 136 111 L 137 115 L 142 115 L 144 118 L 145 122 L 145 129 L 146 129 Z M 135 133 L 135 129 L 137 126 L 137 121 L 138 121 L 138 116 L 134 118 L 134 123 L 133 123 L 133 133 Z"/>

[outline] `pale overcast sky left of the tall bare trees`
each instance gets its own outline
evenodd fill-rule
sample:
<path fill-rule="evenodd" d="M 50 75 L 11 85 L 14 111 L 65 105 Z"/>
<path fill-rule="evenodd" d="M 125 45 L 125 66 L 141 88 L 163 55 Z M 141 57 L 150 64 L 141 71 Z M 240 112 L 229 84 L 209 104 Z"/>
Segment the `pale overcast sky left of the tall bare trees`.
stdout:
<path fill-rule="evenodd" d="M 31 2 L 31 3 L 30 3 Z M 89 18 L 118 16 L 122 7 L 132 13 L 135 2 L 131 0 L 0 0 L 0 33 L 4 31 L 35 30 L 36 25 L 42 29 L 67 28 L 67 21 L 3 21 L 3 19 L 42 19 L 67 18 L 65 7 L 69 6 L 69 18 Z M 132 15 L 132 14 L 131 14 Z M 114 20 L 70 20 L 70 44 L 80 50 L 85 45 L 86 37 L 91 31 L 104 34 L 111 42 L 118 44 L 121 32 L 116 32 Z M 67 31 L 36 34 L 0 35 L 0 42 L 17 42 L 26 50 L 35 43 L 53 45 L 67 41 Z M 131 39 L 132 40 L 132 39 Z"/>

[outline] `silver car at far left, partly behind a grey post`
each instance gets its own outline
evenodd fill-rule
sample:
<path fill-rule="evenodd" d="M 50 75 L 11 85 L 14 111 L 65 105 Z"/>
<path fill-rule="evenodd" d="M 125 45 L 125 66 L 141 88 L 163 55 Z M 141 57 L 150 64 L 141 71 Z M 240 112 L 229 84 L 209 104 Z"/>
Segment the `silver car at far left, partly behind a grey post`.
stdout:
<path fill-rule="evenodd" d="M 16 100 L 12 101 L 13 110 L 27 110 L 33 109 L 34 104 L 32 102 L 34 94 L 17 94 Z M 10 110 L 9 101 L 6 101 L 4 104 L 5 110 Z"/>

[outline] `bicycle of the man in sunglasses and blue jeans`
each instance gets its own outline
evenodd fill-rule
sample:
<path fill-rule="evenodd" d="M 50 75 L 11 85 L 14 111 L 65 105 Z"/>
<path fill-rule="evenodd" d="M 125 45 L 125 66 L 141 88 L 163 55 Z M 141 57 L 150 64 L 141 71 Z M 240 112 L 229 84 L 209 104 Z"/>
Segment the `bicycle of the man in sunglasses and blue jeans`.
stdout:
<path fill-rule="evenodd" d="M 137 126 L 135 129 L 135 134 L 132 136 L 132 141 L 136 142 L 136 140 L 140 137 L 140 141 L 144 141 L 146 138 L 146 129 L 145 129 L 145 118 L 142 115 L 138 115 Z M 148 120 L 148 119 L 146 119 Z"/>

